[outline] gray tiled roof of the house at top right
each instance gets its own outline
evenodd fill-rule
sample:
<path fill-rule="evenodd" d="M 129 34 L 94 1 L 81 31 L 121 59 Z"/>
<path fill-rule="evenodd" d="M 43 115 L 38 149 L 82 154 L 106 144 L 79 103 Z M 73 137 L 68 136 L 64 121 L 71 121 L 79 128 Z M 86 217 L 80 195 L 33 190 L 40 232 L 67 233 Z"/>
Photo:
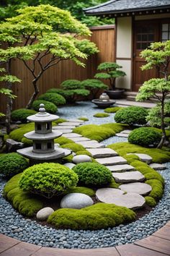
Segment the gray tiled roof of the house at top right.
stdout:
<path fill-rule="evenodd" d="M 86 8 L 84 12 L 89 15 L 102 15 L 167 8 L 170 8 L 170 0 L 111 0 Z"/>

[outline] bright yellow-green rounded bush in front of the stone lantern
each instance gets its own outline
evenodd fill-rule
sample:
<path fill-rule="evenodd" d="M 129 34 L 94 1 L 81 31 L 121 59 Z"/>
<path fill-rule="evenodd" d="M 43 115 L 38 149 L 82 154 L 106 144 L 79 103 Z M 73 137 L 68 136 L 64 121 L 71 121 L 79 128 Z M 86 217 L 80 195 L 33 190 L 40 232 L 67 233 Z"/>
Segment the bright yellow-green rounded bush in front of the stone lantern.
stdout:
<path fill-rule="evenodd" d="M 27 168 L 19 181 L 26 192 L 51 198 L 75 187 L 78 176 L 70 168 L 59 163 L 40 163 Z"/>

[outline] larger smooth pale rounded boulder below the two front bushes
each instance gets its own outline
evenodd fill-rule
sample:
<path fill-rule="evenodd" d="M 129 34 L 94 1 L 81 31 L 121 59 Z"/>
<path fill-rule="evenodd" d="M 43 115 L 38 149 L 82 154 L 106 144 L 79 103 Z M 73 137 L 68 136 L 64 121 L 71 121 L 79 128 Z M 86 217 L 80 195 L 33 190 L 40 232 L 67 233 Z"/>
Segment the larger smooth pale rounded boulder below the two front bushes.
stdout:
<path fill-rule="evenodd" d="M 61 200 L 61 208 L 81 209 L 93 204 L 91 197 L 82 193 L 71 193 L 65 195 Z"/>

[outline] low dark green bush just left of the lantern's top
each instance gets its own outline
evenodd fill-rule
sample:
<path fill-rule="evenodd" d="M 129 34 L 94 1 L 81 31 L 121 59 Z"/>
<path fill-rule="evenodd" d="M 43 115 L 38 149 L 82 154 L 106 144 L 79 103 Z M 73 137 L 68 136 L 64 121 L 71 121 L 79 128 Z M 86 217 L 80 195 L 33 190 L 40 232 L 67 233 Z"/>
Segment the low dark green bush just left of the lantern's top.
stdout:
<path fill-rule="evenodd" d="M 21 121 L 27 123 L 27 116 L 32 116 L 37 112 L 33 109 L 19 108 L 12 111 L 12 121 Z"/>

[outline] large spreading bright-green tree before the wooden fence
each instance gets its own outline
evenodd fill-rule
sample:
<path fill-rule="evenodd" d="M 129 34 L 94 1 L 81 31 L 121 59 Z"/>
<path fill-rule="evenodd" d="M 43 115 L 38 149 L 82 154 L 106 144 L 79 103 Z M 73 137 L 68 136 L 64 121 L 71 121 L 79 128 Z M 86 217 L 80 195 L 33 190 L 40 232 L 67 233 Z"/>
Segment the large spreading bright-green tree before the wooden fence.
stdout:
<path fill-rule="evenodd" d="M 11 59 L 20 59 L 31 72 L 34 93 L 27 103 L 27 108 L 31 108 L 39 93 L 37 82 L 47 69 L 65 59 L 72 59 L 84 67 L 80 58 L 86 59 L 98 50 L 89 40 L 77 38 L 91 32 L 68 11 L 42 4 L 19 9 L 18 13 L 1 23 L 0 40 L 5 35 L 17 45 L 1 49 L 0 58 L 5 61 L 12 54 Z"/>

